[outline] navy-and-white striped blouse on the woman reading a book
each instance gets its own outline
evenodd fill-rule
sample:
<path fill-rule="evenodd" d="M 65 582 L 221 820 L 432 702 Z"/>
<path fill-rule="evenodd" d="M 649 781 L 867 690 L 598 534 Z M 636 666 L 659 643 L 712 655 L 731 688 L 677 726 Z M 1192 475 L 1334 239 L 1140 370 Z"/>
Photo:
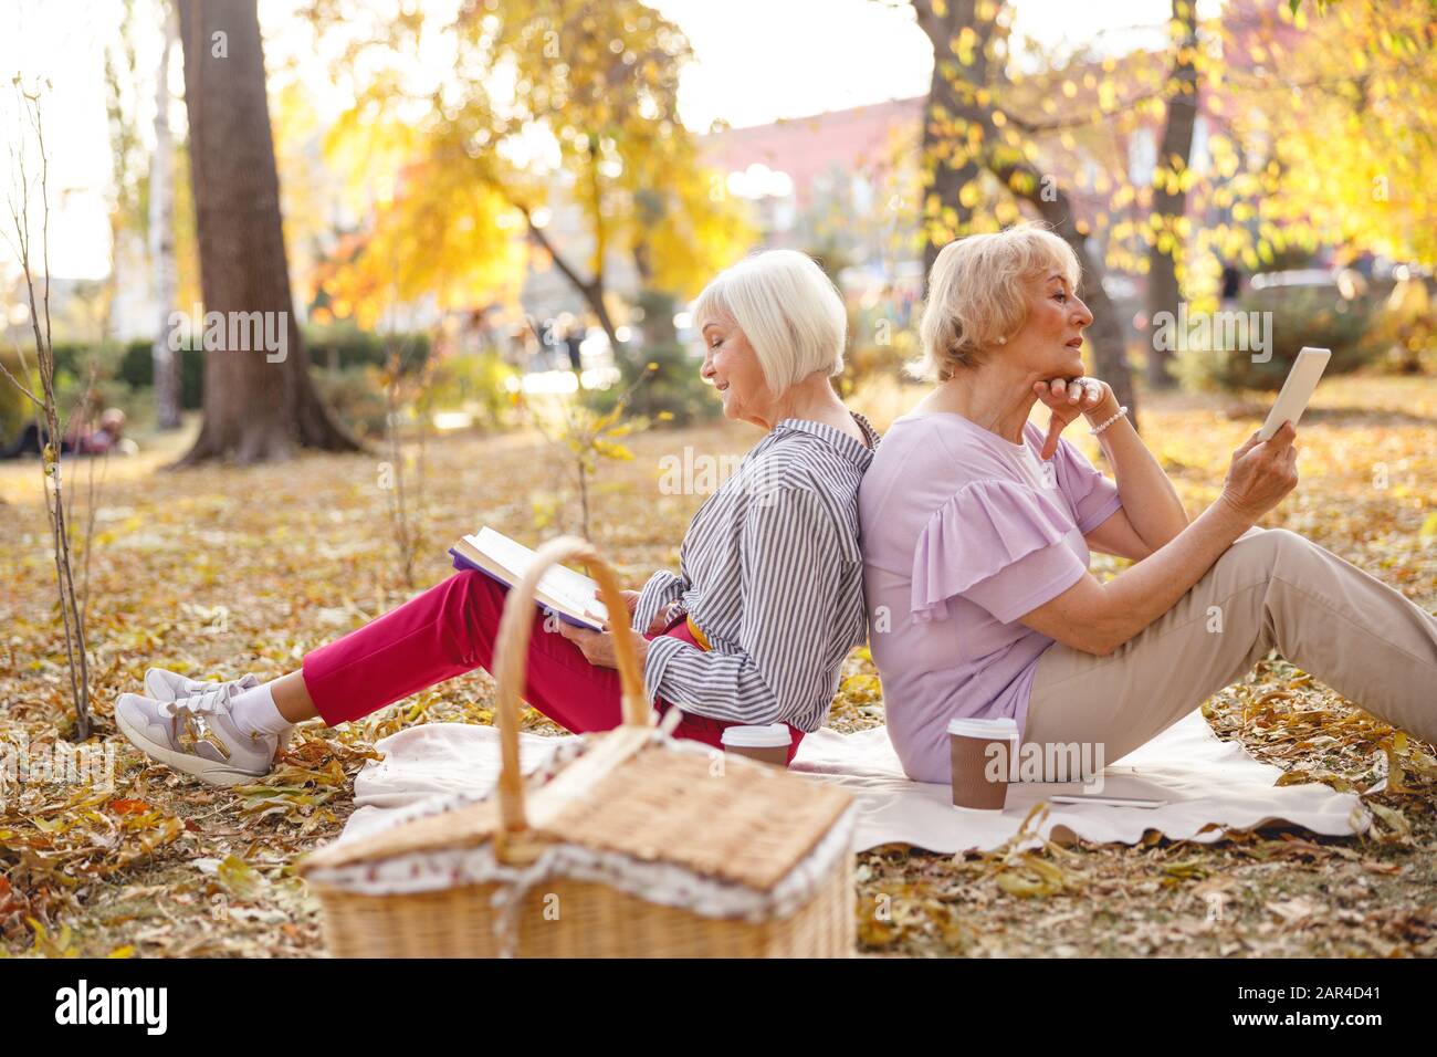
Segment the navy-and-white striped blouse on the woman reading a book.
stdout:
<path fill-rule="evenodd" d="M 849 414 L 867 446 L 823 423 L 775 424 L 698 508 L 678 575 L 661 569 L 644 584 L 635 631 L 670 607 L 711 647 L 650 640 L 650 699 L 710 719 L 822 726 L 844 657 L 868 640 L 858 485 L 878 433 Z"/>

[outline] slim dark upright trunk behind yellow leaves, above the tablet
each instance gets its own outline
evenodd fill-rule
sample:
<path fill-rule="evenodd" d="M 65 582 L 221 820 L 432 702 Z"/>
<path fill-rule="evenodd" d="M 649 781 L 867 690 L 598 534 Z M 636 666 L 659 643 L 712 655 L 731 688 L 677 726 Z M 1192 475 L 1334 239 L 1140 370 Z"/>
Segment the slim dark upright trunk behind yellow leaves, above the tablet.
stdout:
<path fill-rule="evenodd" d="M 1173 60 L 1168 93 L 1167 119 L 1163 127 L 1163 145 L 1158 148 L 1157 173 L 1152 180 L 1152 213 L 1161 217 L 1158 237 L 1148 249 L 1148 384 L 1154 388 L 1171 388 L 1173 351 L 1161 348 L 1158 319 L 1164 312 L 1168 319 L 1177 319 L 1183 290 L 1177 282 L 1177 262 L 1183 253 L 1177 221 L 1187 211 L 1187 191 L 1181 187 L 1170 191 L 1167 180 L 1160 178 L 1168 168 L 1177 168 L 1181 175 L 1193 154 L 1193 127 L 1197 122 L 1197 66 L 1193 52 L 1197 49 L 1197 13 L 1194 0 L 1173 0 L 1173 20 L 1181 23 L 1183 37 L 1177 42 L 1177 56 Z M 1181 160 L 1175 167 L 1173 158 Z M 1167 234 L 1167 242 L 1163 236 Z"/>

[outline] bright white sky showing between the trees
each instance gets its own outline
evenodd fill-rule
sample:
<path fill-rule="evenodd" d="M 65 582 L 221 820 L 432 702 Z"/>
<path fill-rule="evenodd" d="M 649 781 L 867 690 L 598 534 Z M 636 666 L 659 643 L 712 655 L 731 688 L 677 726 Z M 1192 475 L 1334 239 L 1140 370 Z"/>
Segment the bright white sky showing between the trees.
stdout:
<path fill-rule="evenodd" d="M 450 0 L 451 1 L 451 0 Z M 435 0 L 440 3 L 440 0 Z M 714 121 L 766 124 L 822 111 L 923 95 L 933 70 L 927 37 L 907 4 L 882 0 L 651 0 L 688 36 L 696 60 L 680 83 L 680 115 L 685 125 L 707 131 Z M 1209 0 L 1216 4 L 1217 0 Z M 157 0 L 135 0 L 152 32 L 137 42 L 142 76 L 141 122 L 151 142 L 154 73 L 160 58 Z M 303 33 L 293 22 L 296 0 L 260 0 L 260 26 L 267 59 L 305 56 Z M 440 3 L 441 7 L 450 3 Z M 1200 13 L 1209 14 L 1200 4 Z M 1096 40 L 1104 52 L 1161 42 L 1168 0 L 1017 0 L 1015 35 L 1046 46 Z M 118 36 L 121 4 L 115 0 L 0 0 L 0 127 L 13 139 L 14 99 L 10 81 L 49 76 L 45 101 L 50 152 L 50 266 L 66 278 L 101 278 L 108 259 L 108 181 L 103 49 Z M 1138 27 L 1138 29 L 1134 29 Z M 308 52 L 312 55 L 312 52 Z M 178 58 L 178 56 L 177 56 Z M 333 92 L 315 66 L 315 91 Z M 306 78 L 308 81 L 309 78 Z M 178 99 L 182 76 L 171 69 Z M 175 104 L 175 121 L 182 104 Z M 0 197 L 11 184 L 9 158 L 0 173 Z M 3 203 L 0 203 L 3 204 Z M 0 211 L 9 221 L 9 211 Z M 0 269 L 13 270 L 13 256 L 0 243 Z"/>

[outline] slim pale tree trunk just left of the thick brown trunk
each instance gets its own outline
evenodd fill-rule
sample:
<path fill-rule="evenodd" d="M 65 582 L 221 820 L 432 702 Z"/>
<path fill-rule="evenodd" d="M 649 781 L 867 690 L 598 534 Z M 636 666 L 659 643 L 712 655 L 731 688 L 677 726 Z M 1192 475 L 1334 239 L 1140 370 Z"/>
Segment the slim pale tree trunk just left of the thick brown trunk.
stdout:
<path fill-rule="evenodd" d="M 174 138 L 170 134 L 170 55 L 175 36 L 174 12 L 165 6 L 165 45 L 155 78 L 155 154 L 149 163 L 149 266 L 160 319 L 155 328 L 155 421 L 162 430 L 180 426 L 180 355 L 170 348 L 170 314 L 175 309 Z"/>

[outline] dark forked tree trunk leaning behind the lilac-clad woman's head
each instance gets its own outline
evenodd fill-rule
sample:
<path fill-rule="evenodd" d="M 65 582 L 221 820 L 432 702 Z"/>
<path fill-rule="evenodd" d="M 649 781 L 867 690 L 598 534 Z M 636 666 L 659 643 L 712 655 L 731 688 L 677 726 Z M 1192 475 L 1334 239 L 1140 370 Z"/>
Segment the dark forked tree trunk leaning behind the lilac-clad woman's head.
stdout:
<path fill-rule="evenodd" d="M 976 91 L 958 92 L 953 79 L 940 73 L 944 63 L 950 59 L 956 60 L 951 42 L 964 29 L 971 29 L 976 35 L 973 46 L 974 60 L 969 66 L 957 65 L 956 76 L 967 81 L 974 89 L 992 91 L 987 85 L 989 65 L 983 58 L 989 39 L 993 35 L 992 19 L 980 16 L 976 0 L 950 0 L 943 17 L 934 12 L 930 0 L 912 0 L 912 7 L 918 16 L 918 24 L 933 43 L 934 75 L 930 91 L 938 92 L 937 105 L 943 108 L 943 116 L 973 122 L 983 131 L 983 147 L 970 160 L 970 164 L 981 165 L 1002 180 L 1015 196 L 1033 206 L 1043 220 L 1053 226 L 1055 233 L 1072 246 L 1073 253 L 1078 255 L 1078 263 L 1083 273 L 1082 296 L 1092 312 L 1092 326 L 1088 328 L 1088 341 L 1092 345 L 1094 371 L 1112 387 L 1118 401 L 1127 404 L 1135 429 L 1138 424 L 1138 401 L 1132 390 L 1132 370 L 1128 365 L 1122 321 L 1118 318 L 1118 312 L 1102 286 L 1106 265 L 1099 255 L 1088 249 L 1086 234 L 1079 230 L 1079 223 L 1073 219 L 1072 201 L 1061 187 L 1055 186 L 1050 180 L 1043 180 L 1042 174 L 1017 157 L 1016 152 L 996 151 L 993 145 L 1002 142 L 1002 135 L 993 121 L 993 106 L 979 102 Z M 994 76 L 1006 82 L 1006 76 L 1000 69 L 994 70 Z M 933 96 L 930 96 L 928 106 L 930 109 L 934 106 Z M 925 151 L 930 145 L 940 150 L 940 152 L 951 147 L 941 137 L 934 135 L 925 124 Z M 963 203 L 957 200 L 957 194 L 967 183 L 967 178 L 960 178 L 966 174 L 966 167 L 948 168 L 947 163 L 940 158 L 934 163 L 934 168 L 935 177 L 943 173 L 954 174 L 948 184 L 944 184 L 954 197 L 944 198 L 941 204 L 953 206 L 953 209 L 958 210 L 960 219 L 966 223 L 971 217 L 971 211 L 964 210 Z M 937 183 L 934 187 L 937 188 Z M 924 259 L 928 262 L 928 267 L 931 267 L 931 262 L 937 257 L 941 244 L 934 244 L 931 229 L 925 229 L 924 243 Z"/>

